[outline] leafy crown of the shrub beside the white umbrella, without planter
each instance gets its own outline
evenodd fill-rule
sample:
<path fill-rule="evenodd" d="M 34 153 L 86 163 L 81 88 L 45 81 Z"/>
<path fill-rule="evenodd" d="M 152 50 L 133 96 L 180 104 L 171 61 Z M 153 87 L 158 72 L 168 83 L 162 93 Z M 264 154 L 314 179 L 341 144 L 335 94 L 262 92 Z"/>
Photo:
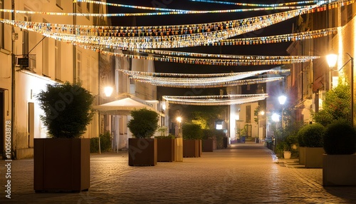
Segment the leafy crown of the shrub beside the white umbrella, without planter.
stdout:
<path fill-rule="evenodd" d="M 136 138 L 150 138 L 158 128 L 158 113 L 142 108 L 131 111 L 132 119 L 127 123 L 131 133 Z"/>

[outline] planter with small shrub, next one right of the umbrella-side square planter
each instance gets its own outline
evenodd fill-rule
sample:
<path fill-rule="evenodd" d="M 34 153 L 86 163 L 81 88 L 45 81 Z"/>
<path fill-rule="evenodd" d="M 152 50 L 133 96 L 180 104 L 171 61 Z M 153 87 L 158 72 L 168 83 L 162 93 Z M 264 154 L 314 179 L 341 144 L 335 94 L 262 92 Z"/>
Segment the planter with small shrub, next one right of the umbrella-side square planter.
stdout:
<path fill-rule="evenodd" d="M 160 136 L 155 137 L 157 138 L 157 161 L 172 162 L 175 160 L 177 142 L 174 141 L 174 135 L 168 134 L 167 136 L 167 129 L 167 127 L 159 128 Z"/>

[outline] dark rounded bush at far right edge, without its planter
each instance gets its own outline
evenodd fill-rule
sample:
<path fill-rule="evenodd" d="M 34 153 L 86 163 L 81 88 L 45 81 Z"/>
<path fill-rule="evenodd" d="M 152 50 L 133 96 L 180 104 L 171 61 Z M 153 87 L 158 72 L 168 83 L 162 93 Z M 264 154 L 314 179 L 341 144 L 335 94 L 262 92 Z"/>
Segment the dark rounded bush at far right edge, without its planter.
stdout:
<path fill-rule="evenodd" d="M 325 153 L 347 155 L 356 153 L 356 131 L 347 121 L 330 124 L 323 137 Z"/>

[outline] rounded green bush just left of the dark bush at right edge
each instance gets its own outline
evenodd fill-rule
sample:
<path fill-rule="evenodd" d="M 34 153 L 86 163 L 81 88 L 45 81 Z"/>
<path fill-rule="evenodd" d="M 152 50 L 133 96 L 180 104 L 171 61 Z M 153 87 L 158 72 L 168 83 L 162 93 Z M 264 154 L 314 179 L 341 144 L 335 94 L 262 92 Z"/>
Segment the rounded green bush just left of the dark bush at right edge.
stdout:
<path fill-rule="evenodd" d="M 322 148 L 323 136 L 325 134 L 325 127 L 319 123 L 313 123 L 298 131 L 299 146 L 305 146 L 308 148 Z M 300 145 L 300 143 L 302 145 Z"/>

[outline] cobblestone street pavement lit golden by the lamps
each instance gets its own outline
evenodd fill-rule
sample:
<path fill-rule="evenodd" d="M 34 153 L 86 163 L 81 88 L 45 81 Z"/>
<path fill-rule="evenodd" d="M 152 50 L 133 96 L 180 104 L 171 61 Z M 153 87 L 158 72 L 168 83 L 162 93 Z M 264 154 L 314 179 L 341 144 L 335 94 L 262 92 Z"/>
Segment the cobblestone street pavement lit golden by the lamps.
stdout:
<path fill-rule="evenodd" d="M 5 164 L 0 203 L 356 203 L 356 187 L 324 188 L 321 169 L 277 163 L 260 143 L 151 167 L 127 165 L 125 151 L 93 154 L 90 189 L 81 193 L 35 193 L 33 159 L 13 160 L 11 199 Z"/>

